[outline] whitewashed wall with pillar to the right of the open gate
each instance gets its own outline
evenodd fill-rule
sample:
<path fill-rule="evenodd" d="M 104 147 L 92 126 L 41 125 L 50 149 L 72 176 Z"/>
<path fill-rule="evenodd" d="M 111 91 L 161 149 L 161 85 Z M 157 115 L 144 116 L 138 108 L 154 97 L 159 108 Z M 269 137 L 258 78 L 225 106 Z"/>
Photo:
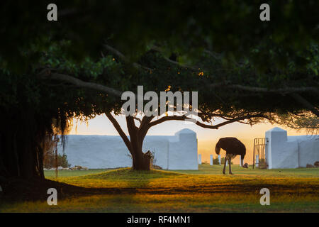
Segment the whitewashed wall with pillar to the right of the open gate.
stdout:
<path fill-rule="evenodd" d="M 265 138 L 269 169 L 306 167 L 319 161 L 319 135 L 287 136 L 287 131 L 276 127 Z"/>

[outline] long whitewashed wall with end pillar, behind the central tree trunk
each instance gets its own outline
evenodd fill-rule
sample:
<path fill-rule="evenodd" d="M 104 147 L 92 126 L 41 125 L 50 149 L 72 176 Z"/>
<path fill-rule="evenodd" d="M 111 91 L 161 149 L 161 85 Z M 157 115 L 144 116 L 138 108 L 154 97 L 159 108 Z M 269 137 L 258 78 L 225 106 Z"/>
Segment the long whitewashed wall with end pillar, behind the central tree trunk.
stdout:
<path fill-rule="evenodd" d="M 155 153 L 155 165 L 165 170 L 198 170 L 197 138 L 190 129 L 175 135 L 148 135 L 142 151 Z M 58 146 L 62 153 L 62 146 Z M 67 160 L 72 166 L 90 169 L 131 167 L 132 159 L 120 136 L 68 135 L 65 145 Z"/>

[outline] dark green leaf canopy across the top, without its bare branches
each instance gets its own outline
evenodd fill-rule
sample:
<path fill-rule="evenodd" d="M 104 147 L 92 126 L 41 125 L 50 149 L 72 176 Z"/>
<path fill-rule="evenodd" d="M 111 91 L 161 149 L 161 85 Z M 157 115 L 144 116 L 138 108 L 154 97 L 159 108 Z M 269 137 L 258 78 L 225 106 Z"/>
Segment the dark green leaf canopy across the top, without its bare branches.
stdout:
<path fill-rule="evenodd" d="M 160 92 L 168 86 L 172 92 L 198 91 L 203 119 L 216 113 L 241 116 L 259 111 L 282 114 L 303 111 L 303 106 L 290 101 L 289 96 L 223 87 L 212 89 L 210 84 L 230 82 L 273 89 L 318 86 L 318 44 L 315 43 L 318 33 L 314 32 L 317 25 L 314 14 L 310 13 L 316 9 L 315 1 L 302 5 L 296 1 L 274 1 L 271 23 L 259 21 L 259 1 L 249 4 L 172 2 L 160 6 L 149 3 L 142 5 L 143 11 L 138 14 L 138 4 L 123 1 L 57 1 L 59 11 L 74 9 L 76 13 L 69 13 L 67 19 L 62 16 L 54 23 L 39 19 L 46 9 L 45 2 L 28 4 L 28 12 L 24 11 L 25 4 L 24 1 L 20 5 L 8 3 L 1 15 L 3 23 L 10 26 L 11 16 L 7 14 L 15 10 L 16 30 L 23 27 L 19 34 L 10 31 L 3 36 L 11 41 L 0 48 L 1 62 L 13 71 L 29 65 L 33 69 L 28 75 L 32 79 L 30 86 L 40 84 L 38 90 L 31 89 L 27 95 L 32 97 L 30 102 L 36 102 L 39 109 L 60 109 L 68 118 L 92 118 L 105 111 L 119 113 L 122 102 L 70 84 L 38 82 L 39 69 L 50 68 L 118 91 L 136 92 L 138 85 L 144 86 L 144 92 Z M 282 13 L 283 9 L 286 13 Z M 80 20 L 79 15 L 84 11 L 86 16 Z M 162 13 L 167 17 L 160 16 Z M 126 60 L 103 48 L 104 43 L 120 50 Z M 154 45 L 161 51 L 152 50 Z M 212 56 L 206 50 L 220 55 Z M 172 55 L 176 55 L 179 65 L 165 60 Z M 21 66 L 9 67 L 14 62 L 21 62 Z M 150 70 L 133 67 L 132 62 Z M 6 94 L 7 88 L 2 89 Z M 49 101 L 40 100 L 44 93 Z M 8 94 L 1 99 L 15 100 Z M 307 94 L 306 99 L 318 106 L 316 96 Z M 47 106 L 50 101 L 54 104 Z"/>

